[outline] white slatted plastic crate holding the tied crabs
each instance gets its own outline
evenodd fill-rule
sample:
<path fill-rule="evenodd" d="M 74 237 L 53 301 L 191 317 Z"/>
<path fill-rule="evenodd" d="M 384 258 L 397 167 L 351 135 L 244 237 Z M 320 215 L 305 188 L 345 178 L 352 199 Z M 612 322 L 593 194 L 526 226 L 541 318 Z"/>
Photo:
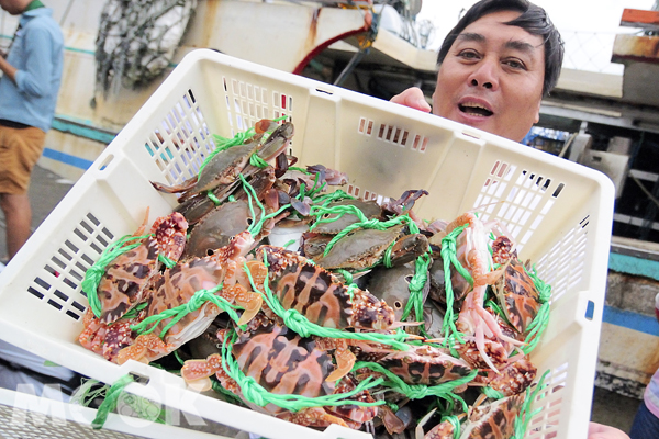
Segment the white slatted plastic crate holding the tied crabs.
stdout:
<path fill-rule="evenodd" d="M 613 214 L 602 173 L 440 117 L 284 74 L 212 50 L 186 56 L 0 274 L 0 338 L 85 375 L 269 438 L 365 438 L 333 426 L 295 426 L 185 387 L 181 379 L 133 361 L 119 367 L 77 342 L 87 300 L 80 281 L 103 248 L 169 213 L 174 195 L 149 180 L 192 177 L 213 148 L 263 117 L 289 115 L 292 153 L 349 176 L 347 192 L 398 198 L 426 189 L 415 210 L 453 219 L 482 206 L 503 221 L 552 285 L 551 319 L 532 359 L 550 384 L 528 438 L 585 437 Z"/>

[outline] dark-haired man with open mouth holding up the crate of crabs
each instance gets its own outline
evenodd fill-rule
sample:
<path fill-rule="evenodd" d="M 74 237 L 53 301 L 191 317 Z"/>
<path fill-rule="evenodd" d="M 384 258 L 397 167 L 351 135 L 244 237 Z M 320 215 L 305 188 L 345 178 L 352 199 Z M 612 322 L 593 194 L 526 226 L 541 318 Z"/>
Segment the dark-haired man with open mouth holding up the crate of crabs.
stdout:
<path fill-rule="evenodd" d="M 543 8 L 526 0 L 481 0 L 439 48 L 433 106 L 418 88 L 391 102 L 521 142 L 539 121 L 540 102 L 558 82 L 562 57 L 563 42 Z M 591 423 L 588 438 L 628 436 Z"/>

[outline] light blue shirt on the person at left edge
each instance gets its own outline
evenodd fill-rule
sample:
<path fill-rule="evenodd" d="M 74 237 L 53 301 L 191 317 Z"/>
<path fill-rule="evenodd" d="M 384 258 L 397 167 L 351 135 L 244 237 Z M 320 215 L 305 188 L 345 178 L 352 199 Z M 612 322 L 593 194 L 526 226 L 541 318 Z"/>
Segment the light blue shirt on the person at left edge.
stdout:
<path fill-rule="evenodd" d="M 38 8 L 21 15 L 7 61 L 18 69 L 14 83 L 0 78 L 0 119 L 47 132 L 55 114 L 64 66 L 64 36 L 53 10 Z"/>

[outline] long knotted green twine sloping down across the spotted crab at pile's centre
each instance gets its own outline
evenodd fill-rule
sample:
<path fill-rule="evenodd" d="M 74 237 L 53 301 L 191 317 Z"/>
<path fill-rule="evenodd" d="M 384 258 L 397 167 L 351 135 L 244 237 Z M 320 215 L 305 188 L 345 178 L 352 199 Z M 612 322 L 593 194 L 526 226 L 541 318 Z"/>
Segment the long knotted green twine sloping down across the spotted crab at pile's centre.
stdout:
<path fill-rule="evenodd" d="M 264 255 L 264 263 L 266 267 L 269 267 L 265 255 Z M 252 289 L 254 291 L 260 292 L 260 290 L 254 283 L 254 279 L 252 277 L 252 273 L 249 272 L 249 269 L 247 268 L 247 264 L 245 263 L 244 267 L 245 267 L 245 273 L 247 274 L 247 278 L 249 279 L 249 283 L 252 284 Z M 264 280 L 264 285 L 263 285 L 265 294 L 261 294 L 264 297 L 264 301 L 266 302 L 268 307 L 270 307 L 270 309 L 272 309 L 272 312 L 275 314 L 277 314 L 279 317 L 281 317 L 283 319 L 283 324 L 288 328 L 290 328 L 292 331 L 299 334 L 302 337 L 310 337 L 310 336 L 314 335 L 314 336 L 324 337 L 324 338 L 346 338 L 346 339 L 351 339 L 351 340 L 366 340 L 366 341 L 373 341 L 373 342 L 379 342 L 382 345 L 388 345 L 398 350 L 410 349 L 410 345 L 407 345 L 403 341 L 406 338 L 405 333 L 396 333 L 396 334 L 347 333 L 347 331 L 344 331 L 340 329 L 325 328 L 323 326 L 319 326 L 314 323 L 311 323 L 311 322 L 309 322 L 309 319 L 306 317 L 304 317 L 302 314 L 300 314 L 300 312 L 298 312 L 297 309 L 293 309 L 293 308 L 284 309 L 283 306 L 281 305 L 281 303 L 279 302 L 279 300 L 277 297 L 275 297 L 275 295 L 272 294 L 272 291 L 270 290 L 270 286 L 268 285 L 268 283 L 269 283 L 269 280 L 268 280 L 268 277 L 266 275 L 266 279 Z"/>

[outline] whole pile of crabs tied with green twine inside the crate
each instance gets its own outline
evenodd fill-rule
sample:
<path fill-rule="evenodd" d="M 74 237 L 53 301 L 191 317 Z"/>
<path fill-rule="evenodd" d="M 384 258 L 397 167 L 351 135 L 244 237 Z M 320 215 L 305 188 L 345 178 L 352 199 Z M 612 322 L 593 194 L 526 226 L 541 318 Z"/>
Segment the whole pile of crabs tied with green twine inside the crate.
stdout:
<path fill-rule="evenodd" d="M 88 270 L 80 344 L 309 427 L 521 438 L 549 288 L 505 227 L 422 221 L 424 190 L 382 205 L 330 192 L 347 177 L 293 167 L 292 136 L 264 120 L 197 178 L 154 182 L 180 204 Z"/>

